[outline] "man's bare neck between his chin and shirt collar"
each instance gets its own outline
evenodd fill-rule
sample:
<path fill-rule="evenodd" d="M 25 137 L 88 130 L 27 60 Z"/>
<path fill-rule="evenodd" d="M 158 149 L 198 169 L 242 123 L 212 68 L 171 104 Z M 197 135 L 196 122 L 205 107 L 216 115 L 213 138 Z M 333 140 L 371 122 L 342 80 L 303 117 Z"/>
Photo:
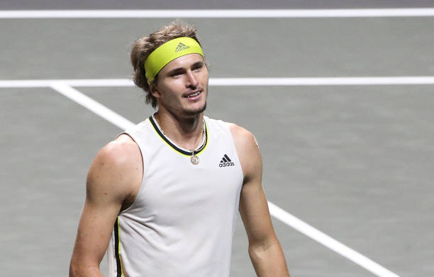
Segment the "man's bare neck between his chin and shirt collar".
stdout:
<path fill-rule="evenodd" d="M 165 136 L 178 146 L 195 149 L 201 143 L 204 131 L 203 112 L 192 117 L 179 118 L 158 110 L 154 117 Z"/>

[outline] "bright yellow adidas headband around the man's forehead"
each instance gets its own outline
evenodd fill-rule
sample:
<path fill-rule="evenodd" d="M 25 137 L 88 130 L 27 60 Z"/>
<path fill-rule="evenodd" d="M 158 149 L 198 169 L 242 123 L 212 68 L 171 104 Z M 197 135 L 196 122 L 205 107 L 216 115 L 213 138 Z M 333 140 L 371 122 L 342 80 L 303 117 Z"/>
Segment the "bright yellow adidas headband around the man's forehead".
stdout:
<path fill-rule="evenodd" d="M 166 64 L 169 64 L 170 61 L 193 53 L 201 54 L 201 56 L 204 57 L 201 46 L 191 37 L 178 37 L 165 42 L 165 44 L 155 49 L 145 61 L 148 83 L 150 83 L 155 75 L 157 75 Z"/>

